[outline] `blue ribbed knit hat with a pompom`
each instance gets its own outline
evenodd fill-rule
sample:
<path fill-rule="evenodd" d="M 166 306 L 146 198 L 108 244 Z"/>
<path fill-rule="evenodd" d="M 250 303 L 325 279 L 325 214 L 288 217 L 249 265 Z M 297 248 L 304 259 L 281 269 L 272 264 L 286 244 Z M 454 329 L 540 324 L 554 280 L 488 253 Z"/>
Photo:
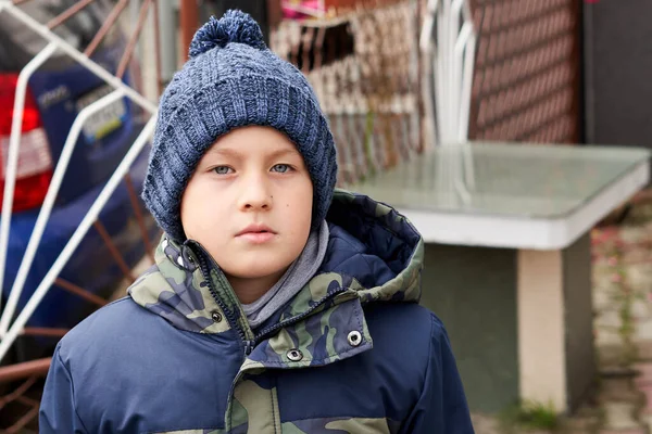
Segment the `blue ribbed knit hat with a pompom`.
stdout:
<path fill-rule="evenodd" d="M 218 137 L 247 125 L 274 127 L 297 145 L 314 188 L 313 227 L 326 217 L 337 163 L 319 103 L 303 74 L 266 48 L 258 23 L 228 11 L 197 31 L 161 97 L 142 199 L 173 240 L 186 240 L 180 201 L 197 164 Z"/>

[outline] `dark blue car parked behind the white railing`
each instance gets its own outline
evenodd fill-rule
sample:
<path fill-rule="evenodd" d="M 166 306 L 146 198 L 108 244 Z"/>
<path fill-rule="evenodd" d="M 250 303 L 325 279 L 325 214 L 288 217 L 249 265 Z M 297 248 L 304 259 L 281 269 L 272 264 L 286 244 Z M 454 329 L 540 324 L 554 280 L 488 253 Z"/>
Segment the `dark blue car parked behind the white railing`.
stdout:
<path fill-rule="evenodd" d="M 32 0 L 21 8 L 38 22 L 47 23 L 74 3 L 74 0 Z M 54 33 L 83 51 L 106 20 L 112 7 L 110 1 L 92 2 L 57 27 Z M 112 74 L 115 73 L 125 50 L 125 36 L 117 28 L 110 31 L 92 54 L 92 60 Z M 46 41 L 22 23 L 14 21 L 8 13 L 0 13 L 0 194 L 4 188 L 4 159 L 17 76 L 45 46 Z M 135 79 L 136 75 L 128 69 L 124 81 L 133 86 Z M 111 90 L 104 81 L 65 54 L 53 55 L 29 80 L 7 269 L 0 294 L 3 297 L 2 307 L 7 303 L 71 126 L 82 108 Z M 36 254 L 17 312 L 48 272 L 142 129 L 147 120 L 145 115 L 147 113 L 137 104 L 124 99 L 87 122 Z M 141 190 L 146 167 L 147 149 L 130 169 L 137 193 Z M 154 238 L 156 229 L 153 220 L 147 213 L 143 214 L 148 217 L 146 224 L 150 237 Z M 146 252 L 124 182 L 104 207 L 99 220 L 127 265 L 133 267 Z M 91 228 L 60 277 L 92 293 L 108 296 L 124 275 L 98 231 Z M 67 329 L 84 318 L 90 308 L 87 302 L 53 286 L 27 326 Z"/>

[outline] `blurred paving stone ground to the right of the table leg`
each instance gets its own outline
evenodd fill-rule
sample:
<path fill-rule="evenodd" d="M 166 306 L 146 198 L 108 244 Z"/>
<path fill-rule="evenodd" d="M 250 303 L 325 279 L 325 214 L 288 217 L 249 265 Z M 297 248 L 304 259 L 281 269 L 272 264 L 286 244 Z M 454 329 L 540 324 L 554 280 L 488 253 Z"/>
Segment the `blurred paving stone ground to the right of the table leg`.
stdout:
<path fill-rule="evenodd" d="M 473 414 L 477 434 L 652 434 L 652 201 L 591 235 L 595 392 L 555 431 L 509 427 L 496 417 Z"/>

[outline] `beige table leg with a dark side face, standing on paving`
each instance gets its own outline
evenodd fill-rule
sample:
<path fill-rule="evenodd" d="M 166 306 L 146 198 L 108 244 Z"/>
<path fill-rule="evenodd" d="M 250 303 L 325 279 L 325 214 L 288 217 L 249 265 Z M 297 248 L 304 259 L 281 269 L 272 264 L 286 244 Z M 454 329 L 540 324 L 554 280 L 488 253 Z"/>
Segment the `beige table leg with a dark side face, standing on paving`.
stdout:
<path fill-rule="evenodd" d="M 590 239 L 563 251 L 518 251 L 517 269 L 521 397 L 566 412 L 595 374 Z"/>

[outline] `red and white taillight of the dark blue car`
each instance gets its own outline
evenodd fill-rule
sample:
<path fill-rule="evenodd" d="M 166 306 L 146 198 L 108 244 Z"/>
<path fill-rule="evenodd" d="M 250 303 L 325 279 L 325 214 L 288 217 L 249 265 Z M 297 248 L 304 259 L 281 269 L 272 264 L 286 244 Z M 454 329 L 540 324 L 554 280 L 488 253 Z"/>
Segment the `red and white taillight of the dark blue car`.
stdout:
<path fill-rule="evenodd" d="M 17 80 L 17 74 L 0 74 L 0 202 L 4 195 L 4 175 Z M 51 179 L 52 156 L 46 130 L 36 100 L 27 89 L 18 146 L 13 209 L 24 210 L 40 206 Z"/>

